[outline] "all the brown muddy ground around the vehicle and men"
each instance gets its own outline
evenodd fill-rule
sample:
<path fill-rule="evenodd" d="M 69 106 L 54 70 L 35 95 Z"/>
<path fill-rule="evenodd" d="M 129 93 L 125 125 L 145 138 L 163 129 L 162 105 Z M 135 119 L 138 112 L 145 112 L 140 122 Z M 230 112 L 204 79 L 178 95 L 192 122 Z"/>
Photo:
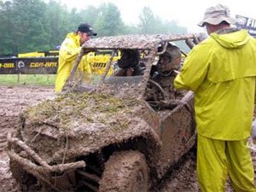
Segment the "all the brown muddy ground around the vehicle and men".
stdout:
<path fill-rule="evenodd" d="M 9 157 L 5 153 L 6 135 L 15 129 L 18 114 L 28 105 L 36 104 L 55 96 L 53 87 L 0 86 L 0 189 L 1 192 L 20 192 L 19 185 L 9 172 Z M 256 150 L 252 149 L 253 163 L 256 165 Z M 195 175 L 195 150 L 191 150 L 183 160 L 161 180 L 151 192 L 198 192 Z M 226 191 L 233 191 L 227 184 Z"/>

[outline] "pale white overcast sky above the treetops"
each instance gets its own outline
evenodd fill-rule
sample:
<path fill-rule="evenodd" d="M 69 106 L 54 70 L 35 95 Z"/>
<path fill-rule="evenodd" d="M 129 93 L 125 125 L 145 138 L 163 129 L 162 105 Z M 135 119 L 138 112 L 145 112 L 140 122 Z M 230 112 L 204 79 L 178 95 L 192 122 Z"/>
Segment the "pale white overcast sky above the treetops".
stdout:
<path fill-rule="evenodd" d="M 189 32 L 201 31 L 197 26 L 208 7 L 222 3 L 230 8 L 232 16 L 242 15 L 256 19 L 255 0 L 60 0 L 68 8 L 84 9 L 88 5 L 98 6 L 101 3 L 114 3 L 126 24 L 137 24 L 138 15 L 143 7 L 148 6 L 162 20 L 176 20 Z M 254 3 L 253 3 L 254 2 Z M 84 20 L 86 22 L 86 20 Z"/>

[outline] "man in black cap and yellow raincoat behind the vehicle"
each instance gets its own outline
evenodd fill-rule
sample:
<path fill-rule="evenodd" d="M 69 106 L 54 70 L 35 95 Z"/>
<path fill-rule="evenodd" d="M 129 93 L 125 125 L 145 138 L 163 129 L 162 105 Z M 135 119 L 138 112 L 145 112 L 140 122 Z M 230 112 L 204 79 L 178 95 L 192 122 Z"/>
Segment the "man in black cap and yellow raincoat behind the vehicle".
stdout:
<path fill-rule="evenodd" d="M 55 79 L 55 92 L 60 92 L 71 73 L 74 61 L 79 55 L 81 45 L 90 40 L 91 36 L 96 36 L 92 28 L 88 24 L 80 24 L 77 32 L 70 32 L 61 44 L 59 54 L 59 66 Z M 79 64 L 79 69 L 83 73 L 90 73 L 90 65 L 86 61 L 85 56 Z"/>

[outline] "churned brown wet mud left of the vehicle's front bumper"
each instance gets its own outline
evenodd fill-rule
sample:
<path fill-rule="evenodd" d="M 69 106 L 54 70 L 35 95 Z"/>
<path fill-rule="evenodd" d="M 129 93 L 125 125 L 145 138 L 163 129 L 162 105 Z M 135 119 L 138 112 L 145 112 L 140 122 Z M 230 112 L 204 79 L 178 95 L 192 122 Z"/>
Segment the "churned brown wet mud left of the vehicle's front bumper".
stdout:
<path fill-rule="evenodd" d="M 20 192 L 20 186 L 9 171 L 9 156 L 5 152 L 9 131 L 17 128 L 18 115 L 27 106 L 54 96 L 53 87 L 0 86 L 0 190 Z"/>

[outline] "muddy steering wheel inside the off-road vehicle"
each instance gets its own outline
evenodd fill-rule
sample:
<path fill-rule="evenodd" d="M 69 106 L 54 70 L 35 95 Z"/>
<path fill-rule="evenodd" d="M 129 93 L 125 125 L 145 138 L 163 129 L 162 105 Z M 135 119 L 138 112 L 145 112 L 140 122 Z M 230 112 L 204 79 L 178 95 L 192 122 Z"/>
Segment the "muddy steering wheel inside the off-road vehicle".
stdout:
<path fill-rule="evenodd" d="M 160 100 L 165 100 L 165 91 L 153 79 L 148 79 L 146 101 L 152 108 L 158 108 Z"/>

